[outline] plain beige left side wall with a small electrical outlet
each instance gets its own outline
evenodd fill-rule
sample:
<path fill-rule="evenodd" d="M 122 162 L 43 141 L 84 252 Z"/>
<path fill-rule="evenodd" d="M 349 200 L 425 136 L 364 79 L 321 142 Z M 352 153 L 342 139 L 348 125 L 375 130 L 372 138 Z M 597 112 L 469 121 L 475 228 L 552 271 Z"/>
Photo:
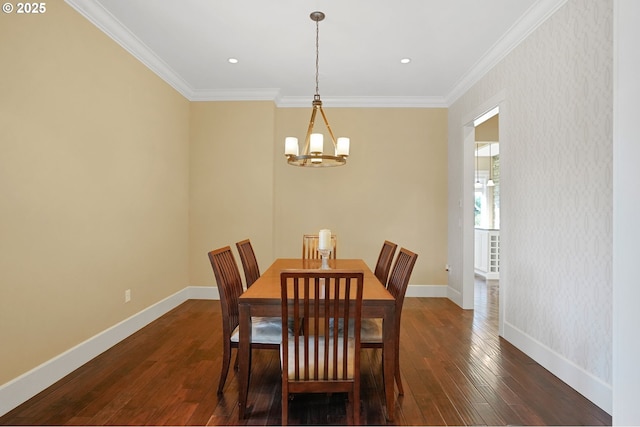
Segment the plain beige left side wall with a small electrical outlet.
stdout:
<path fill-rule="evenodd" d="M 3 384 L 188 285 L 189 104 L 62 1 L 0 61 Z"/>

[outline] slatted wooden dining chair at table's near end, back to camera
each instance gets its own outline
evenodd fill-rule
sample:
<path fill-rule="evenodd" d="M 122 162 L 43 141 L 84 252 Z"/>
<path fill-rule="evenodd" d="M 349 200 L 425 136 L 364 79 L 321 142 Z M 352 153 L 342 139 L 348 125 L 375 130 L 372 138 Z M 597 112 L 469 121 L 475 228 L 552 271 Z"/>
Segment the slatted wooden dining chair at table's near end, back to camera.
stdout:
<path fill-rule="evenodd" d="M 290 318 L 302 330 L 282 334 L 282 424 L 295 393 L 347 393 L 350 421 L 360 423 L 360 326 L 364 273 L 283 270 L 283 331 Z M 354 328 L 339 331 L 339 324 Z"/>

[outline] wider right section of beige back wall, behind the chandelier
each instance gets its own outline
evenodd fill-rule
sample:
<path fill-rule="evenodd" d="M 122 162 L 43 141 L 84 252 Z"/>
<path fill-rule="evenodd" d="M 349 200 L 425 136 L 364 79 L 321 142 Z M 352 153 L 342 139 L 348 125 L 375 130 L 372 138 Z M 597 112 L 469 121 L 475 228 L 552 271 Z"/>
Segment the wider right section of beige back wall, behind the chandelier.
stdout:
<path fill-rule="evenodd" d="M 344 167 L 308 170 L 287 165 L 283 141 L 303 139 L 310 111 L 277 111 L 274 256 L 300 256 L 302 234 L 329 228 L 341 258 L 373 268 L 391 240 L 419 255 L 411 284 L 446 285 L 447 110 L 325 108 L 351 155 Z"/>

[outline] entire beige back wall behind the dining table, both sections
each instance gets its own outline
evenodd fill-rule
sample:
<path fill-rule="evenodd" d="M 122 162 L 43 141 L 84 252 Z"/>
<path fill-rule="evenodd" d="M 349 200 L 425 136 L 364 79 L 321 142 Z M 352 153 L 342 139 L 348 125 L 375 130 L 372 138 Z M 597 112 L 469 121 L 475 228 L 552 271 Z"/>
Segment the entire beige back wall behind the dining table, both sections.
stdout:
<path fill-rule="evenodd" d="M 310 113 L 270 102 L 192 104 L 191 284 L 215 284 L 212 249 L 235 253 L 250 238 L 264 270 L 300 256 L 302 234 L 330 228 L 339 257 L 373 267 L 392 240 L 419 254 L 412 284 L 446 285 L 446 109 L 327 108 L 352 155 L 345 167 L 313 170 L 284 157 L 285 136 L 302 140 Z"/>

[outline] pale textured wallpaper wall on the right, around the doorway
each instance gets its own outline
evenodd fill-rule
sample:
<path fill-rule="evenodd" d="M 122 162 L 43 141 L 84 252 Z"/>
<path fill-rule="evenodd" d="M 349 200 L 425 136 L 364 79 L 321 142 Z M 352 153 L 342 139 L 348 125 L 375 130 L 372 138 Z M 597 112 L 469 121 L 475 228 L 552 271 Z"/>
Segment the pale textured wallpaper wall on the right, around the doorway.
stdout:
<path fill-rule="evenodd" d="M 450 135 L 459 134 L 465 114 L 504 93 L 505 322 L 606 384 L 612 379 L 612 26 L 611 1 L 569 0 L 449 115 Z M 461 143 L 455 136 L 450 141 Z"/>

